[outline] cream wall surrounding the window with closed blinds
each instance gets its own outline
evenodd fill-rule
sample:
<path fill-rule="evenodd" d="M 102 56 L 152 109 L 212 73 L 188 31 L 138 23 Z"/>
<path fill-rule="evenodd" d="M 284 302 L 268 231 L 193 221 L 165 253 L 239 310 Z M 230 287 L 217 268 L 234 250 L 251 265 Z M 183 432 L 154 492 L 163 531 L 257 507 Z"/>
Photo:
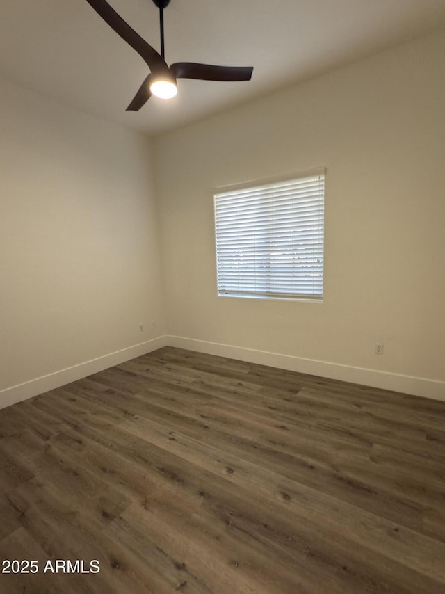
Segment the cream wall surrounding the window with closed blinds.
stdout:
<path fill-rule="evenodd" d="M 157 138 L 168 333 L 445 394 L 444 72 L 441 33 Z M 218 298 L 213 188 L 320 166 L 323 303 Z"/>

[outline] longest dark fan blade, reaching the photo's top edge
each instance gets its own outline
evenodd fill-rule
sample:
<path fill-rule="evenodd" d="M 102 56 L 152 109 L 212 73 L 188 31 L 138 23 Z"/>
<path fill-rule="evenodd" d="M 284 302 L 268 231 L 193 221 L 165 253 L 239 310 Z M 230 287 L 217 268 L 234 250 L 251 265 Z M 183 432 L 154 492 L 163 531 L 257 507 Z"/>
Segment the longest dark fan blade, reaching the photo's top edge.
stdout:
<path fill-rule="evenodd" d="M 86 0 L 97 14 L 143 58 L 152 72 L 168 72 L 168 65 L 160 54 L 131 29 L 105 0 Z"/>

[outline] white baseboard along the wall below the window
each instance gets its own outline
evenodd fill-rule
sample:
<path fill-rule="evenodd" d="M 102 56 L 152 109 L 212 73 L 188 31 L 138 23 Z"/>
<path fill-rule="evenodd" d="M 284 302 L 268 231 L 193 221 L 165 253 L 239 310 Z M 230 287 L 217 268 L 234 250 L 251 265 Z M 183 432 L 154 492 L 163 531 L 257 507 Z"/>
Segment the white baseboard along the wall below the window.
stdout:
<path fill-rule="evenodd" d="M 268 353 L 267 351 L 255 351 L 252 348 L 218 344 L 216 342 L 195 340 L 181 336 L 166 337 L 166 344 L 209 355 L 220 355 L 221 357 L 268 365 L 270 367 L 277 367 L 278 369 L 300 371 L 302 374 L 322 376 L 334 380 L 359 383 L 384 390 L 402 392 L 403 394 L 413 394 L 414 396 L 445 401 L 445 382 L 437 380 L 391 374 L 387 371 L 350 367 L 348 365 L 314 359 L 303 359 L 290 355 L 280 355 L 279 353 Z"/>

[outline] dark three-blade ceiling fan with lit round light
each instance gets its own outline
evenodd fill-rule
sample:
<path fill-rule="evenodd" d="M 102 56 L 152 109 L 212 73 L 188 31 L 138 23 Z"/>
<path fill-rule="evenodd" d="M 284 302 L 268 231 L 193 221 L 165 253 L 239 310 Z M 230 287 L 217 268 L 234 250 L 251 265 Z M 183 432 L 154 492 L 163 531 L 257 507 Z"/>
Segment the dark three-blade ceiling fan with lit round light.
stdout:
<path fill-rule="evenodd" d="M 161 54 L 149 45 L 127 24 L 106 0 L 86 0 L 92 8 L 126 41 L 147 63 L 150 74 L 143 81 L 138 92 L 127 107 L 127 111 L 138 111 L 152 95 L 169 99 L 177 94 L 176 79 L 199 79 L 202 81 L 250 81 L 252 66 L 214 66 L 195 62 L 177 62 L 168 66 L 164 59 L 163 10 L 170 0 L 152 0 L 159 8 L 161 29 Z"/>

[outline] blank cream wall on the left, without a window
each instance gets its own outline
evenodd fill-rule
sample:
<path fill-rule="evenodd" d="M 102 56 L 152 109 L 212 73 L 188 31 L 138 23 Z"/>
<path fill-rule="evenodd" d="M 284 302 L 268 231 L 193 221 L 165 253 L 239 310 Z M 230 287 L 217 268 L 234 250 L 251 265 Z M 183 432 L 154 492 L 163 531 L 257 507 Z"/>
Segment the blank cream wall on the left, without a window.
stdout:
<path fill-rule="evenodd" d="M 0 89 L 1 391 L 165 324 L 147 138 Z"/>

